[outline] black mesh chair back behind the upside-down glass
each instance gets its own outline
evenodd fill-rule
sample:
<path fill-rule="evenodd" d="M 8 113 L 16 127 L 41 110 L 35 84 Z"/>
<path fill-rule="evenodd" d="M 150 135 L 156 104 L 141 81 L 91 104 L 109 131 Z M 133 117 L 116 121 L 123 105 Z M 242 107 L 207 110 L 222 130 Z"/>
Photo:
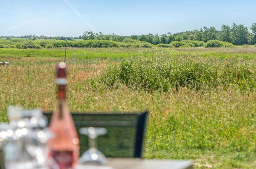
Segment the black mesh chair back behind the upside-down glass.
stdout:
<path fill-rule="evenodd" d="M 50 121 L 51 113 L 44 113 Z M 80 128 L 102 127 L 107 134 L 97 138 L 97 149 L 106 157 L 142 158 L 148 112 L 143 113 L 72 113 L 80 154 L 88 150 L 88 137 Z"/>

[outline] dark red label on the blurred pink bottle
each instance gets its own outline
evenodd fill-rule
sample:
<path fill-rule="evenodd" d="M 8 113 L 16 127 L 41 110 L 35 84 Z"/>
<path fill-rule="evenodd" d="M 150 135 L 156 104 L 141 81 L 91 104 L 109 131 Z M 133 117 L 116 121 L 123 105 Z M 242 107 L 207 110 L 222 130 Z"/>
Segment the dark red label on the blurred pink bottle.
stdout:
<path fill-rule="evenodd" d="M 72 151 L 52 151 L 51 155 L 60 169 L 70 169 L 73 164 Z"/>

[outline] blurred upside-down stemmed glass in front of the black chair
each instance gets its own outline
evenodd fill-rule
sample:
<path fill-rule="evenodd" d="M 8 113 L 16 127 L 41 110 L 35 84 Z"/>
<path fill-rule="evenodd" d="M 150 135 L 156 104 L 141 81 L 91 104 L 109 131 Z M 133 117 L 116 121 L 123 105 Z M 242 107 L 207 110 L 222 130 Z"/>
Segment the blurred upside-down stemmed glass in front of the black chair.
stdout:
<path fill-rule="evenodd" d="M 80 163 L 89 164 L 106 164 L 105 155 L 97 150 L 97 137 L 107 133 L 105 128 L 81 128 L 79 131 L 83 135 L 89 137 L 89 149 L 84 152 L 79 160 Z"/>

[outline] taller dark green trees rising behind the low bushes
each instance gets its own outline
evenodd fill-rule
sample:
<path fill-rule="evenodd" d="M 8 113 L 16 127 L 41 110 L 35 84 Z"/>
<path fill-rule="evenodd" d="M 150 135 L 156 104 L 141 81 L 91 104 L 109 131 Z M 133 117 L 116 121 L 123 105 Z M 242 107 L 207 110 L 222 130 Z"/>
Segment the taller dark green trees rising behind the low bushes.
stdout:
<path fill-rule="evenodd" d="M 126 38 L 145 41 L 147 43 L 157 44 L 170 44 L 172 41 L 182 40 L 199 40 L 207 42 L 209 40 L 227 41 L 233 45 L 254 45 L 256 43 L 256 23 L 252 23 L 250 30 L 240 24 L 233 24 L 231 27 L 222 25 L 221 30 L 216 30 L 214 27 L 204 27 L 200 30 L 186 31 L 171 34 L 170 32 L 163 35 L 158 34 L 143 34 L 143 35 L 104 35 L 103 33 L 93 33 L 91 31 L 84 32 L 82 38 L 84 40 L 99 39 L 99 40 L 113 40 L 123 41 Z"/>

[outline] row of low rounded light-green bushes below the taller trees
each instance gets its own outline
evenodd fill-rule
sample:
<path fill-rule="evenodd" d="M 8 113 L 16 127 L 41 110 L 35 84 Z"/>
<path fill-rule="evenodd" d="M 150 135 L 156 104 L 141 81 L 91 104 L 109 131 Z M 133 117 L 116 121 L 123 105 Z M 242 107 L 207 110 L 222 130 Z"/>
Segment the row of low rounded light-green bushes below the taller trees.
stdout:
<path fill-rule="evenodd" d="M 212 40 L 209 40 L 211 43 Z M 214 41 L 214 40 L 213 40 Z M 219 41 L 219 40 L 216 40 Z M 233 45 L 228 42 L 219 41 L 222 47 L 232 47 Z M 207 43 L 206 43 L 207 44 Z M 225 44 L 225 45 L 224 45 Z M 41 48 L 62 48 L 66 46 L 65 40 L 1 40 L 0 39 L 0 48 L 18 48 L 18 49 L 41 49 Z M 182 41 L 172 41 L 170 44 L 157 44 L 152 45 L 145 41 L 134 40 L 131 38 L 124 39 L 122 42 L 117 42 L 113 40 L 78 40 L 78 41 L 67 41 L 67 47 L 73 48 L 180 48 L 180 47 L 203 47 L 205 43 L 198 40 L 182 40 Z M 208 47 L 208 46 L 206 46 Z M 219 46 L 221 47 L 221 46 Z"/>

